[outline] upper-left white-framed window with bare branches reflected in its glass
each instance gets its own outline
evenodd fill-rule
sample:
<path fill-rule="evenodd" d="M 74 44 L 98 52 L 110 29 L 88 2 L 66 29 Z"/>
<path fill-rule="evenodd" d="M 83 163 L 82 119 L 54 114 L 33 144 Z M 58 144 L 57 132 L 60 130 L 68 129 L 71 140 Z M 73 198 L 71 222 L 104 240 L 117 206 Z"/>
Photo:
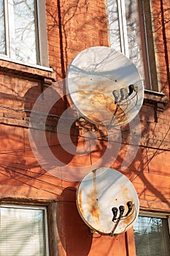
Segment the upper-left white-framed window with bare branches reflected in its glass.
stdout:
<path fill-rule="evenodd" d="M 48 67 L 44 0 L 0 0 L 0 58 Z"/>

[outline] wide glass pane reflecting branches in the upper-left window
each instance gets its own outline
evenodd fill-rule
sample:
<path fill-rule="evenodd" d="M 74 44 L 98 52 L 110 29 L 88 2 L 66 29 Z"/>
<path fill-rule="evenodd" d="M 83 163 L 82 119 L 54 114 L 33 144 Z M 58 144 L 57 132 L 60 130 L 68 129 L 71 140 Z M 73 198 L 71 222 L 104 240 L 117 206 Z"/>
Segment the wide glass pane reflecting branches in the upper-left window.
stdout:
<path fill-rule="evenodd" d="M 15 56 L 36 64 L 36 12 L 34 0 L 14 1 Z"/>

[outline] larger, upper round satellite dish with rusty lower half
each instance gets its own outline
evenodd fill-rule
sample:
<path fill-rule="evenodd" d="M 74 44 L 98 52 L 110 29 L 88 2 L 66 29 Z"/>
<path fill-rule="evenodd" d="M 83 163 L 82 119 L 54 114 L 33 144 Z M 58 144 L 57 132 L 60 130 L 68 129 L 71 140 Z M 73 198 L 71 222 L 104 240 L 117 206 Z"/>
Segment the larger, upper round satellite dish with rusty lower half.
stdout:
<path fill-rule="evenodd" d="M 144 87 L 138 70 L 112 48 L 83 50 L 69 65 L 66 78 L 73 104 L 94 124 L 127 124 L 142 107 Z"/>

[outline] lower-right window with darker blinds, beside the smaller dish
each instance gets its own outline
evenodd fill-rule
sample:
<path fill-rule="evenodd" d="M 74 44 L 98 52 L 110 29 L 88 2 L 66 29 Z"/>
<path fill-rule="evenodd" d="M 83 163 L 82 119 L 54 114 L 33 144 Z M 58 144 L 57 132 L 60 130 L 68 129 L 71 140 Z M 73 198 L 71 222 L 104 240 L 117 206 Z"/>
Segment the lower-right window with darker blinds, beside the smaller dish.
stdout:
<path fill-rule="evenodd" d="M 134 223 L 136 256 L 170 255 L 168 221 L 168 217 L 159 214 L 138 217 Z"/>

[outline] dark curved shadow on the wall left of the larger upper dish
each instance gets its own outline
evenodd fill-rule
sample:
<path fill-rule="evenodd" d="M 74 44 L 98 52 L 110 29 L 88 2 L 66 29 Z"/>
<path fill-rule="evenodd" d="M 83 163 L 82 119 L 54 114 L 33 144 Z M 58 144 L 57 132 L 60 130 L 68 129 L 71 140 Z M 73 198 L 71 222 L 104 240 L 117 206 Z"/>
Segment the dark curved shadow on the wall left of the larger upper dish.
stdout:
<path fill-rule="evenodd" d="M 34 127 L 34 129 L 29 129 L 33 138 L 33 145 L 35 144 L 38 154 L 45 159 L 46 163 L 44 162 L 43 164 L 45 170 L 52 170 L 58 162 L 64 165 L 71 162 L 74 155 L 67 152 L 61 146 L 57 135 L 58 121 L 61 119 L 61 115 L 66 107 L 63 97 L 58 94 L 56 89 L 48 87 L 43 91 L 41 85 L 39 85 L 27 91 L 25 100 L 27 118 L 31 116 L 29 124 L 31 127 Z M 69 103 L 67 104 L 69 105 Z M 77 146 L 77 129 L 75 129 L 74 122 L 70 124 L 68 120 L 61 120 L 61 126 L 63 125 L 63 128 L 61 130 L 60 140 L 63 140 L 61 141 L 62 143 L 65 142 L 68 137 L 66 126 L 71 125 L 70 137 L 74 146 Z"/>

